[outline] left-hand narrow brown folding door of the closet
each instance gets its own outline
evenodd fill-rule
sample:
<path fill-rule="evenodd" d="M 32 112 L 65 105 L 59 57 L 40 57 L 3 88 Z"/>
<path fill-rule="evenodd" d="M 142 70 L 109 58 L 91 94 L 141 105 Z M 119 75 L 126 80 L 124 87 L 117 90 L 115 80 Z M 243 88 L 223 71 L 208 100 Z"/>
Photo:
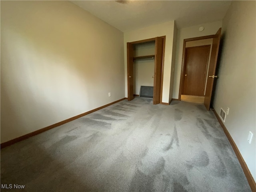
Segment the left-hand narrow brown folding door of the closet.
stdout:
<path fill-rule="evenodd" d="M 127 43 L 127 82 L 128 82 L 128 101 L 133 100 L 133 45 Z"/>

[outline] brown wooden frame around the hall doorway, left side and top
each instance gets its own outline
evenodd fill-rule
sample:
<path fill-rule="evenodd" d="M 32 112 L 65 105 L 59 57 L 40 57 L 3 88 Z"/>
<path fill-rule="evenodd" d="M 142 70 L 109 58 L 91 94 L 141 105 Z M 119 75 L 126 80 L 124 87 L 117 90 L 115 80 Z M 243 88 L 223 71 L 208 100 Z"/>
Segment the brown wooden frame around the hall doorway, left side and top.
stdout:
<path fill-rule="evenodd" d="M 179 90 L 179 98 L 178 98 L 179 101 L 180 101 L 180 98 L 181 98 L 181 92 L 183 90 L 183 84 L 184 84 L 186 42 L 204 40 L 204 39 L 212 39 L 212 38 L 215 38 L 215 37 L 216 37 L 216 35 L 214 34 L 214 35 L 188 38 L 188 39 L 183 40 L 182 67 L 181 67 L 181 72 L 180 72 L 180 90 Z"/>

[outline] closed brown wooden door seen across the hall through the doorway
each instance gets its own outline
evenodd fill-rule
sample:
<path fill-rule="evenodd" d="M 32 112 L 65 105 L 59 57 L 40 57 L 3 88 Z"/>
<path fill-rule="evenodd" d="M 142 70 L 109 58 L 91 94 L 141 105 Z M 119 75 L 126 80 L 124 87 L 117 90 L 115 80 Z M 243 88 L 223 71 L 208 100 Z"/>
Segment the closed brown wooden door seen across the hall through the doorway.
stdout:
<path fill-rule="evenodd" d="M 186 48 L 183 95 L 204 96 L 210 47 L 204 45 Z"/>

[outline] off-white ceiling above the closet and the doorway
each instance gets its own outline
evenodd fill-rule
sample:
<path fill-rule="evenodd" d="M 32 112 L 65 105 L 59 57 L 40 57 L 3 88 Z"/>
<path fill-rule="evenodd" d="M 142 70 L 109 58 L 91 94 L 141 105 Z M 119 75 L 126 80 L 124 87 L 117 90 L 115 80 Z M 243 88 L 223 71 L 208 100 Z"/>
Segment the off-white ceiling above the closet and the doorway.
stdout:
<path fill-rule="evenodd" d="M 91 0 L 71 1 L 125 32 L 175 20 L 178 28 L 222 20 L 231 1 Z"/>

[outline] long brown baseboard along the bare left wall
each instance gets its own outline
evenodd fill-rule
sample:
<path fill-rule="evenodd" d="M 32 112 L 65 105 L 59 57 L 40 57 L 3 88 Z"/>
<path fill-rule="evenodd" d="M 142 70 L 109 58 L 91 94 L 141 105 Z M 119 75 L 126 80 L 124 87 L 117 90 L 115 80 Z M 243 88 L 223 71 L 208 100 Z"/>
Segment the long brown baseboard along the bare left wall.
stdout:
<path fill-rule="evenodd" d="M 112 104 L 115 104 L 115 103 L 120 102 L 120 101 L 125 100 L 125 99 L 126 99 L 126 98 L 119 99 L 119 100 L 117 100 L 117 101 L 111 102 L 111 103 L 109 103 L 109 104 L 106 104 L 106 105 L 104 105 L 104 106 L 98 107 L 98 108 L 93 109 L 93 110 L 90 110 L 90 111 L 88 111 L 88 112 L 79 114 L 79 115 L 77 115 L 77 116 L 68 118 L 68 119 L 66 119 L 66 120 L 63 120 L 63 121 L 61 121 L 61 122 L 55 123 L 55 124 L 50 125 L 50 126 L 47 126 L 47 127 L 45 127 L 45 128 L 42 128 L 42 129 L 33 131 L 33 132 L 31 132 L 31 133 L 28 133 L 28 134 L 23 135 L 23 136 L 20 136 L 20 137 L 18 137 L 18 138 L 12 139 L 12 140 L 10 140 L 10 141 L 3 142 L 3 143 L 0 144 L 0 148 L 1 148 L 1 149 L 2 149 L 2 148 L 5 148 L 5 147 L 10 146 L 10 145 L 12 145 L 12 144 L 14 144 L 14 143 L 20 142 L 20 141 L 22 141 L 22 140 L 25 140 L 25 139 L 27 139 L 27 138 L 30 138 L 30 137 L 35 136 L 35 135 L 37 135 L 37 134 L 40 134 L 40 133 L 42 133 L 42 132 L 48 131 L 48 130 L 50 130 L 50 129 L 52 129 L 52 128 L 58 127 L 58 126 L 60 126 L 60 125 L 63 125 L 63 124 L 65 124 L 65 123 L 68 123 L 68 122 L 70 122 L 70 121 L 73 121 L 73 120 L 75 120 L 75 119 L 78 119 L 78 118 L 80 118 L 80 117 L 82 117 L 82 116 L 85 116 L 85 115 L 88 115 L 88 114 L 90 114 L 90 113 L 92 113 L 92 112 L 95 112 L 95 111 L 98 111 L 98 110 L 100 110 L 100 109 L 103 109 L 103 108 L 105 108 L 105 107 L 108 107 L 108 106 L 110 106 L 110 105 L 112 105 Z"/>

